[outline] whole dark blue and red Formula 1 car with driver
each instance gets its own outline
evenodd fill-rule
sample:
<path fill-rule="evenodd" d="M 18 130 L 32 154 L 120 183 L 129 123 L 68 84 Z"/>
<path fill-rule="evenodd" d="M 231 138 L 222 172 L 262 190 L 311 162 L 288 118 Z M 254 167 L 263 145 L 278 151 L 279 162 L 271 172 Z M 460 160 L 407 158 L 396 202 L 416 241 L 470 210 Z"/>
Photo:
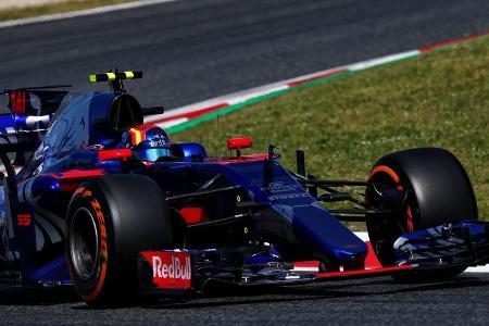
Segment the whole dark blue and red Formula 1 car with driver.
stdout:
<path fill-rule="evenodd" d="M 141 108 L 123 86 L 141 76 L 90 76 L 109 92 L 4 91 L 2 281 L 74 285 L 88 304 L 111 305 L 214 281 L 437 280 L 489 262 L 489 224 L 477 221 L 468 176 L 449 151 L 388 154 L 366 181 L 310 176 L 303 151 L 297 172 L 274 146 L 243 155 L 248 137 L 228 140 L 230 156 L 210 158 L 198 142 L 150 135 L 158 127 L 143 117 L 163 109 Z M 326 209 L 338 201 L 351 208 Z M 364 222 L 369 241 L 342 221 Z"/>

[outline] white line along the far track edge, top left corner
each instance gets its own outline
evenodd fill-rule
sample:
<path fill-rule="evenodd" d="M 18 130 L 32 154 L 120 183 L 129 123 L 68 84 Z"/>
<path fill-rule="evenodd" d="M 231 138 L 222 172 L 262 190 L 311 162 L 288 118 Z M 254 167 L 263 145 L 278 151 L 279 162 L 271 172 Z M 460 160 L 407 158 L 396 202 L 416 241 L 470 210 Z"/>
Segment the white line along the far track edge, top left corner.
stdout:
<path fill-rule="evenodd" d="M 153 5 L 153 4 L 165 3 L 165 2 L 175 2 L 175 1 L 181 1 L 181 0 L 140 0 L 140 1 L 134 1 L 134 2 L 128 2 L 128 3 L 122 3 L 122 4 L 103 5 L 103 7 L 98 7 L 98 8 L 93 8 L 93 9 L 71 11 L 71 12 L 66 12 L 66 13 L 42 15 L 42 16 L 38 16 L 38 17 L 12 20 L 12 21 L 0 22 L 0 28 L 9 28 L 9 27 L 14 27 L 14 26 L 37 24 L 37 23 L 51 22 L 51 21 L 60 21 L 60 20 L 88 16 L 88 15 L 98 15 L 98 14 L 103 14 L 103 13 L 108 13 L 108 12 L 135 9 L 135 8 L 140 8 L 140 7 Z"/>

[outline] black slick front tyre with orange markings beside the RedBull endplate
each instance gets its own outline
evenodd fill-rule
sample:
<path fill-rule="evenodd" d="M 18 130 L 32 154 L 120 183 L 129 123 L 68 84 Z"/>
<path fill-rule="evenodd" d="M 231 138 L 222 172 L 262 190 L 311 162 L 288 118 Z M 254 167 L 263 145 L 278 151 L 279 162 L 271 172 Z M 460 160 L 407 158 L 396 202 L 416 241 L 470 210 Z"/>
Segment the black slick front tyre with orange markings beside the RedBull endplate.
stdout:
<path fill-rule="evenodd" d="M 149 177 L 89 179 L 72 197 L 66 216 L 67 266 L 76 291 L 90 305 L 129 302 L 138 291 L 138 253 L 171 244 L 166 201 Z"/>

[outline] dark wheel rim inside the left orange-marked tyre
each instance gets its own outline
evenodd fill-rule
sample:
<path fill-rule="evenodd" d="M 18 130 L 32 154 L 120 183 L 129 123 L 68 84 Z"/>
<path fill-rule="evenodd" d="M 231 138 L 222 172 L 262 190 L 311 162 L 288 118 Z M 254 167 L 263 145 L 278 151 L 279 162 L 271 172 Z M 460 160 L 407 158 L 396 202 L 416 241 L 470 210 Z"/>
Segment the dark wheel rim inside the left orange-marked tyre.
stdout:
<path fill-rule="evenodd" d="M 99 234 L 93 215 L 85 208 L 78 209 L 72 221 L 70 256 L 76 276 L 90 279 L 99 261 Z"/>

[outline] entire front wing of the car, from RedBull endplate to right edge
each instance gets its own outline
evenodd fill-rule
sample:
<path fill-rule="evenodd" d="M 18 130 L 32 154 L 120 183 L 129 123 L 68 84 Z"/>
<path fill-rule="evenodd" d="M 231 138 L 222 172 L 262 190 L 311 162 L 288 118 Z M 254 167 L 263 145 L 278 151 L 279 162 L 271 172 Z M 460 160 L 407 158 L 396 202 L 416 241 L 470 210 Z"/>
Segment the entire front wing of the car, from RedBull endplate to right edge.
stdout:
<path fill-rule="evenodd" d="M 200 291 L 210 281 L 240 286 L 285 285 L 365 278 L 415 271 L 437 272 L 489 263 L 489 224 L 461 222 L 402 235 L 394 243 L 397 264 L 383 266 L 368 241 L 363 268 L 327 271 L 319 262 L 283 262 L 276 252 L 244 259 L 247 250 L 162 250 L 139 254 L 146 291 Z M 244 263 L 243 263 L 244 262 Z M 326 271 L 325 271 L 326 269 Z"/>

